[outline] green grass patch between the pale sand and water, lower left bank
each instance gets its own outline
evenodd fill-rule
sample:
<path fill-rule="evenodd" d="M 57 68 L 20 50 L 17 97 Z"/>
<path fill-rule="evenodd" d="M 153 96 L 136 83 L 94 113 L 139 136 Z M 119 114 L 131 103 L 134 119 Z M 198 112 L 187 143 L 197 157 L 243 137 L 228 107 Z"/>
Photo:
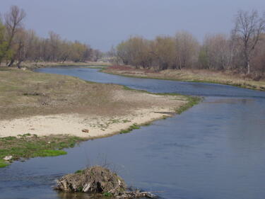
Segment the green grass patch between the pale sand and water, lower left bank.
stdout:
<path fill-rule="evenodd" d="M 76 143 L 82 141 L 85 139 L 66 135 L 37 137 L 37 135 L 24 134 L 18 137 L 2 137 L 0 138 L 0 168 L 6 166 L 3 160 L 6 156 L 12 156 L 12 160 L 57 157 L 67 154 L 61 149 L 74 147 Z"/>

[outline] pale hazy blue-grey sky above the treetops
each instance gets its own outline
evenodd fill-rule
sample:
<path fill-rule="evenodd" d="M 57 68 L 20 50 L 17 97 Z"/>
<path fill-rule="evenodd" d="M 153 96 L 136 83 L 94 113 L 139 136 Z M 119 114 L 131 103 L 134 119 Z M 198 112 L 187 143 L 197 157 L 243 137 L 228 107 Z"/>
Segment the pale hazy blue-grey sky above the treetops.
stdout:
<path fill-rule="evenodd" d="M 53 30 L 103 51 L 130 35 L 152 39 L 179 30 L 201 41 L 207 33 L 230 33 L 239 9 L 265 11 L 265 0 L 0 0 L 0 13 L 11 5 L 25 10 L 26 28 L 38 35 Z"/>

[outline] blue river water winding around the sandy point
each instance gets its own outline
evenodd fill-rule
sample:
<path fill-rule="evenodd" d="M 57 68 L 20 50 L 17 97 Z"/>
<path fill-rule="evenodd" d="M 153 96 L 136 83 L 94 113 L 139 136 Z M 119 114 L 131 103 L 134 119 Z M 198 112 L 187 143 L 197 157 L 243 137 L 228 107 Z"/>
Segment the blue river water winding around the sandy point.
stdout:
<path fill-rule="evenodd" d="M 173 118 L 155 121 L 129 134 L 90 140 L 66 149 L 66 156 L 14 162 L 0 170 L 0 198 L 73 198 L 53 191 L 54 179 L 106 163 L 131 186 L 163 191 L 158 193 L 161 198 L 265 198 L 265 92 L 218 84 L 129 78 L 78 67 L 37 71 L 205 98 Z"/>

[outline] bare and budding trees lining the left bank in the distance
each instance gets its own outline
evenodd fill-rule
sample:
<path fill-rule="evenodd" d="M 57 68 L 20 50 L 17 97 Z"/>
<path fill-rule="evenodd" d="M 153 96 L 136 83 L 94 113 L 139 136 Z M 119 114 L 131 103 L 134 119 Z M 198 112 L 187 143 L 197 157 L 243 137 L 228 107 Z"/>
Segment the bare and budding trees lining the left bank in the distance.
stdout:
<path fill-rule="evenodd" d="M 32 62 L 86 62 L 97 61 L 102 53 L 90 45 L 62 40 L 60 35 L 49 32 L 49 38 L 40 38 L 34 30 L 23 27 L 25 12 L 11 6 L 4 19 L 0 18 L 0 64 L 8 66 L 27 60 Z"/>

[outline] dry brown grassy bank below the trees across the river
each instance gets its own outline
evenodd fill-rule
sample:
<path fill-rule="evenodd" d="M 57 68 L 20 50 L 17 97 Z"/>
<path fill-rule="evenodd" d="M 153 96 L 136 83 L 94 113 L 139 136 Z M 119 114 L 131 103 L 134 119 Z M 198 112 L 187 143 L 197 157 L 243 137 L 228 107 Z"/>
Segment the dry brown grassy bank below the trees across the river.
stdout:
<path fill-rule="evenodd" d="M 105 69 L 104 72 L 121 74 L 124 76 L 228 84 L 232 86 L 240 86 L 247 89 L 257 89 L 265 91 L 265 79 L 254 81 L 249 76 L 246 76 L 244 74 L 235 74 L 233 72 L 216 72 L 204 69 L 167 69 L 161 72 L 153 72 L 151 70 L 132 69 L 131 67 L 109 67 Z"/>

